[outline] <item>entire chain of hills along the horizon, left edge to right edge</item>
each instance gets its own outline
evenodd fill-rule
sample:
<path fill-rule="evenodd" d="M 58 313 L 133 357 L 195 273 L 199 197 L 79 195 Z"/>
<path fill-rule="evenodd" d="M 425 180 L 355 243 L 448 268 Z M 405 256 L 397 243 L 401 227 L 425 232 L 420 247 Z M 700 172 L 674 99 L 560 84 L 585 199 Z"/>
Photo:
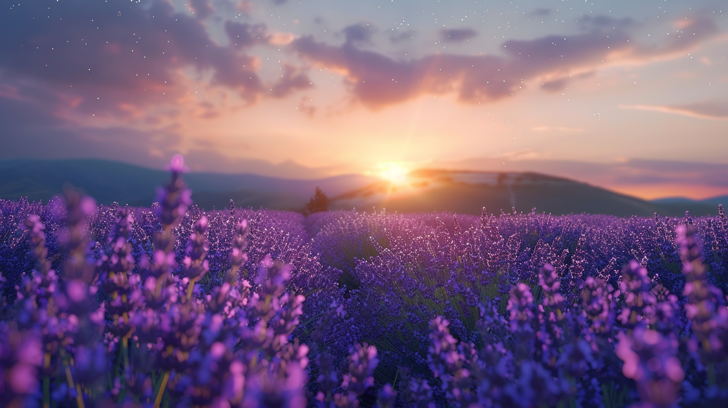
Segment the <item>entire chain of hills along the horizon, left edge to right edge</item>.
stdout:
<path fill-rule="evenodd" d="M 169 175 L 109 160 L 0 160 L 0 198 L 47 201 L 63 192 L 64 184 L 82 189 L 99 203 L 149 206 L 157 186 Z M 480 208 L 499 213 L 536 208 L 553 214 L 604 213 L 652 216 L 653 213 L 694 216 L 717 213 L 728 197 L 695 201 L 685 198 L 646 201 L 568 178 L 539 173 L 415 170 L 406 184 L 380 178 L 344 175 L 314 180 L 255 174 L 188 173 L 194 203 L 205 209 L 239 207 L 301 211 L 320 187 L 331 198 L 331 209 L 480 214 Z"/>

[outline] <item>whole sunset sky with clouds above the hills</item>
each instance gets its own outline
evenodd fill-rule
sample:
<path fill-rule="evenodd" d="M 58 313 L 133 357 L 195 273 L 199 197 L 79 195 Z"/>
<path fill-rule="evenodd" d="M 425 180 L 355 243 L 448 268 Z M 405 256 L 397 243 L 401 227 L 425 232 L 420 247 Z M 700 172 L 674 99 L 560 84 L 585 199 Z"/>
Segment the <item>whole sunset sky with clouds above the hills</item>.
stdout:
<path fill-rule="evenodd" d="M 728 194 L 724 0 L 10 0 L 0 159 Z"/>

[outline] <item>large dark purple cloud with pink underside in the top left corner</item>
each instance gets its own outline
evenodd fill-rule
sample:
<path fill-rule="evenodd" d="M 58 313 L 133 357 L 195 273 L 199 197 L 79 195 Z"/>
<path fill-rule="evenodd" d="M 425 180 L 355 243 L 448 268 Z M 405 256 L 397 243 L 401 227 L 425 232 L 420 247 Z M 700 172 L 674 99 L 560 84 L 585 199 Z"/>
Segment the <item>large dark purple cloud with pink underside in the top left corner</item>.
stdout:
<path fill-rule="evenodd" d="M 208 0 L 190 5 L 199 17 L 213 12 Z M 195 15 L 175 12 L 167 0 L 16 5 L 0 13 L 0 83 L 17 84 L 26 97 L 54 94 L 77 112 L 116 116 L 147 106 L 174 110 L 201 81 L 248 103 L 269 95 L 272 85 L 258 76 L 250 47 L 286 44 L 292 36 L 227 21 L 230 44 L 223 46 Z"/>

